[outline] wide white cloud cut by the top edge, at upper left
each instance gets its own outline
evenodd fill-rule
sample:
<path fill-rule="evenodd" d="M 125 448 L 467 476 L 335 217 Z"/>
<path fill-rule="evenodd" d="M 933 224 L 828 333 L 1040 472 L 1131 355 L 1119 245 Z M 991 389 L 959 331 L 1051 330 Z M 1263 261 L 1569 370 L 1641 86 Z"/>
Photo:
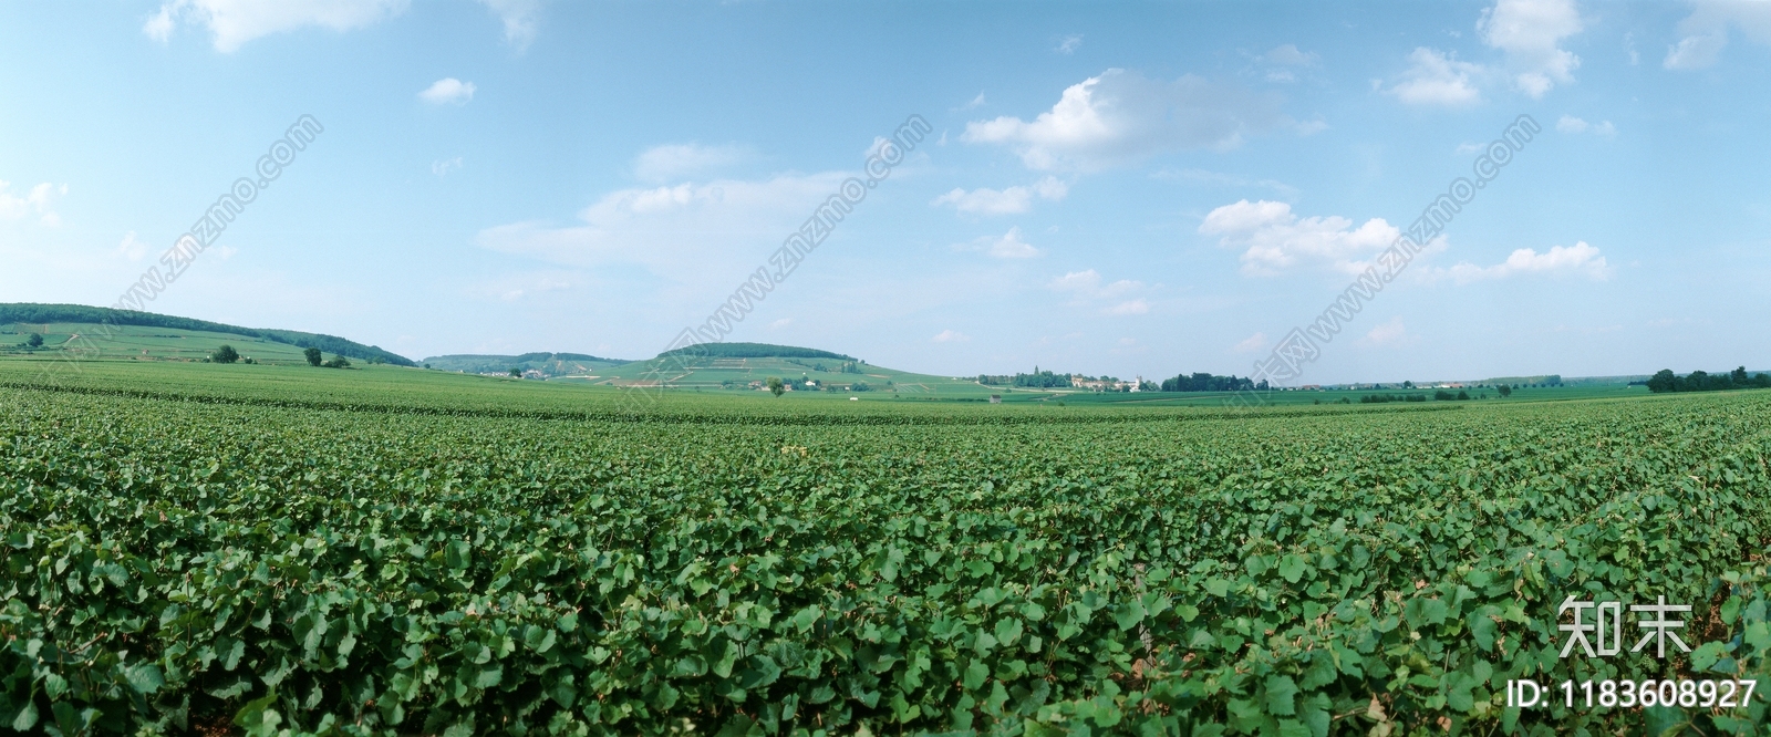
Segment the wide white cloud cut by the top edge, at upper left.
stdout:
<path fill-rule="evenodd" d="M 165 43 L 179 23 L 205 25 L 214 48 L 232 53 L 246 41 L 305 27 L 354 30 L 406 12 L 407 0 L 172 0 L 142 32 Z"/>

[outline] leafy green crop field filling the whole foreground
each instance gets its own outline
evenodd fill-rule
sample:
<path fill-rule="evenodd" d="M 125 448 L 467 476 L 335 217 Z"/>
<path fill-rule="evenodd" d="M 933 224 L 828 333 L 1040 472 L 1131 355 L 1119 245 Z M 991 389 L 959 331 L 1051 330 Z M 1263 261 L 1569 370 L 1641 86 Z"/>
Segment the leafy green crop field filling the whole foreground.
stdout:
<path fill-rule="evenodd" d="M 393 367 L 46 367 L 0 361 L 21 732 L 1766 721 L 1764 691 L 1507 705 L 1511 679 L 1764 679 L 1764 393 L 636 407 Z M 1693 652 L 1564 659 L 1571 595 L 1690 604 Z"/>

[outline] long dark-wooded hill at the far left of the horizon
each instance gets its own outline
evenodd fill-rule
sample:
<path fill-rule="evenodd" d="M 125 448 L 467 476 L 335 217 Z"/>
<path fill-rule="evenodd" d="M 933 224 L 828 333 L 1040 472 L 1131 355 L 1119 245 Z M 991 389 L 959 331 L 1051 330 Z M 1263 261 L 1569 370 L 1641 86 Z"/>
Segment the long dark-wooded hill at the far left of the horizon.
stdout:
<path fill-rule="evenodd" d="M 336 335 L 294 330 L 239 328 L 232 324 L 159 315 L 154 312 L 112 310 L 85 305 L 0 303 L 0 345 L 23 342 L 25 335 L 43 335 L 44 351 L 80 351 L 81 358 L 152 358 L 200 360 L 221 344 L 243 356 L 275 363 L 306 363 L 303 349 L 372 363 L 414 365 L 409 358 L 363 345 Z M 18 338 L 12 338 L 18 335 Z"/>

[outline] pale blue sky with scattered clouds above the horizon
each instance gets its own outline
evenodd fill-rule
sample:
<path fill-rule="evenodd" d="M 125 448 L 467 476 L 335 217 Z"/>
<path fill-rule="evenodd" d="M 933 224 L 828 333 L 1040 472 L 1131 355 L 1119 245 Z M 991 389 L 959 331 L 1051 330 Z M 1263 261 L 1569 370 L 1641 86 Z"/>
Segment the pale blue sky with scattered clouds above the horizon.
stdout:
<path fill-rule="evenodd" d="M 932 374 L 1241 374 L 1518 115 L 1295 383 L 1771 368 L 1771 2 L 0 4 L 0 301 L 411 358 L 646 358 L 909 115 L 933 135 L 728 340 Z"/>

